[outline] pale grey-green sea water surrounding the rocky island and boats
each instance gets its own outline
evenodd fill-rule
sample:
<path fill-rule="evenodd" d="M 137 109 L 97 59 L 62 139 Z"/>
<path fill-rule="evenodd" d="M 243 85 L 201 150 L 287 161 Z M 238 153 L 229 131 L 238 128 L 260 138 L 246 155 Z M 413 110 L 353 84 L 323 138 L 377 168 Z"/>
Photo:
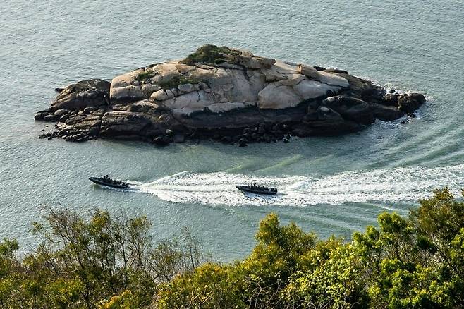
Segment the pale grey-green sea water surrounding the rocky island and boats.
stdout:
<path fill-rule="evenodd" d="M 35 3 L 37 2 L 37 3 Z M 432 188 L 464 186 L 464 1 L 3 1 L 0 6 L 0 237 L 30 248 L 41 205 L 97 205 L 188 226 L 217 260 L 248 254 L 268 212 L 322 237 L 349 237 L 385 210 L 407 214 Z M 54 88 L 226 44 L 343 68 L 429 101 L 408 123 L 246 148 L 39 140 L 33 115 Z M 102 189 L 111 174 L 135 190 Z M 243 181 L 278 186 L 248 198 Z"/>

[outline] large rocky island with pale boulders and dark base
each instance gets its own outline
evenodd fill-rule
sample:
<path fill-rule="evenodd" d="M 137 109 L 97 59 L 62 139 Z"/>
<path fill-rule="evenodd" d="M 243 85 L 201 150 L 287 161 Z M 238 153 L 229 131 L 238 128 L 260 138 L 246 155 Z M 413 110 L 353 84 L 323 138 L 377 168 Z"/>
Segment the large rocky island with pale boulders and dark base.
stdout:
<path fill-rule="evenodd" d="M 222 143 L 341 135 L 375 119 L 392 121 L 424 102 L 418 93 L 387 93 L 346 71 L 288 63 L 229 47 L 205 45 L 187 58 L 106 80 L 57 88 L 38 121 L 56 122 L 39 138 L 184 140 Z"/>

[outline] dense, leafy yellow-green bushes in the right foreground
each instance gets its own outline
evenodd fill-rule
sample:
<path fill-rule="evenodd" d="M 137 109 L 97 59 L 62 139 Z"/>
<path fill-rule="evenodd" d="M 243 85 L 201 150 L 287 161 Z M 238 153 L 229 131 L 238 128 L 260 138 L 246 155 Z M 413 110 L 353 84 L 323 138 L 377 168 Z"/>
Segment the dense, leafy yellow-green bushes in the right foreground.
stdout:
<path fill-rule="evenodd" d="M 464 193 L 463 193 L 464 195 Z M 160 308 L 464 308 L 464 203 L 448 189 L 353 241 L 317 240 L 275 214 L 243 262 L 163 284 Z"/>

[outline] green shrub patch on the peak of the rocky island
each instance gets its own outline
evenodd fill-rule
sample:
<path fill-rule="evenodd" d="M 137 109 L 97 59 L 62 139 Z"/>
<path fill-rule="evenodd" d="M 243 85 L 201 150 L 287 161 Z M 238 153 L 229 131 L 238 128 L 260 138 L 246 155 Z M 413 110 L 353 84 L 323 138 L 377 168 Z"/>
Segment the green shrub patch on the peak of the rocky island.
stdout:
<path fill-rule="evenodd" d="M 216 45 L 207 44 L 199 47 L 196 52 L 187 56 L 181 63 L 209 63 L 219 64 L 223 62 L 233 61 L 233 56 L 240 54 L 240 52 L 229 47 L 217 47 Z"/>

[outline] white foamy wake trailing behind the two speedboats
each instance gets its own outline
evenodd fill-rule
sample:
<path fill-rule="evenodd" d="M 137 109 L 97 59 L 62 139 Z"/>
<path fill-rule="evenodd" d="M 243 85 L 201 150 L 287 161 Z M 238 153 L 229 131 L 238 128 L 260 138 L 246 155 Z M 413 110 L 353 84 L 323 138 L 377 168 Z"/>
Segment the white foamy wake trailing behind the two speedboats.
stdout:
<path fill-rule="evenodd" d="M 279 188 L 278 195 L 244 194 L 235 188 L 238 184 L 254 181 Z M 151 183 L 130 181 L 133 183 L 130 190 L 153 194 L 169 202 L 203 205 L 304 207 L 317 204 L 341 205 L 344 202 L 380 202 L 384 205 L 417 202 L 420 198 L 430 196 L 434 188 L 444 186 L 459 194 L 463 181 L 464 164 L 282 178 L 183 171 Z"/>

